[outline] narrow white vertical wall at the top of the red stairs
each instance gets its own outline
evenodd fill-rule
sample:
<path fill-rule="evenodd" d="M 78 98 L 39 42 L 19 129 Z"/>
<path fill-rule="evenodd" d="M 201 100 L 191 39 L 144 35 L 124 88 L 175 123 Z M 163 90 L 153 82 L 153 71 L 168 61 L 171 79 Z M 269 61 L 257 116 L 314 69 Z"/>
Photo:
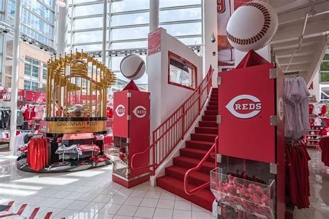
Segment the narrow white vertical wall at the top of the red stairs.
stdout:
<path fill-rule="evenodd" d="M 217 42 L 217 0 L 203 1 L 203 67 L 204 73 L 208 72 L 210 65 L 215 69 L 212 74 L 212 87 L 217 87 L 217 67 L 218 67 L 218 42 Z M 210 42 L 214 33 L 215 42 Z M 212 53 L 215 55 L 212 55 Z"/>

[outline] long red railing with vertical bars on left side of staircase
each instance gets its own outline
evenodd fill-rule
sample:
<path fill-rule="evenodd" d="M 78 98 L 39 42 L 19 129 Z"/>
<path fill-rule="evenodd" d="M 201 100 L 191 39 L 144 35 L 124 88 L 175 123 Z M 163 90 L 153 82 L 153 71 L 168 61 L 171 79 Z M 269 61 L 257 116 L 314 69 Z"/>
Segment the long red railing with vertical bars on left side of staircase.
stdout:
<path fill-rule="evenodd" d="M 210 66 L 207 76 L 203 78 L 199 87 L 185 100 L 185 102 L 176 109 L 164 122 L 162 122 L 158 128 L 153 131 L 153 143 L 142 152 L 138 152 L 131 157 L 131 168 L 139 170 L 142 168 L 150 168 L 153 170 L 151 175 L 154 175 L 155 169 L 162 164 L 163 161 L 170 155 L 174 148 L 180 141 L 184 139 L 184 136 L 191 128 L 192 124 L 199 116 L 202 107 L 210 93 L 212 87 L 212 73 L 214 69 Z M 205 91 L 206 96 L 205 96 Z M 202 103 L 201 103 L 202 102 Z M 146 152 L 153 152 L 152 164 L 147 166 L 136 167 L 134 166 L 134 159 L 139 155 L 144 155 Z"/>

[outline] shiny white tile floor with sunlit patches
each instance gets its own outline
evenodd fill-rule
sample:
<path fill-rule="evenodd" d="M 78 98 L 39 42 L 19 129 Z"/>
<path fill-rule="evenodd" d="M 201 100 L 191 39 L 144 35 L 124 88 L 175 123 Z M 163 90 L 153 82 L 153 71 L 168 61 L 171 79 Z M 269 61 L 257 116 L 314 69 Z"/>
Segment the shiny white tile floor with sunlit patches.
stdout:
<path fill-rule="evenodd" d="M 126 189 L 112 182 L 112 166 L 61 174 L 17 170 L 15 157 L 0 152 L 0 204 L 10 212 L 28 204 L 22 216 L 35 218 L 212 218 L 210 211 L 149 182 Z"/>

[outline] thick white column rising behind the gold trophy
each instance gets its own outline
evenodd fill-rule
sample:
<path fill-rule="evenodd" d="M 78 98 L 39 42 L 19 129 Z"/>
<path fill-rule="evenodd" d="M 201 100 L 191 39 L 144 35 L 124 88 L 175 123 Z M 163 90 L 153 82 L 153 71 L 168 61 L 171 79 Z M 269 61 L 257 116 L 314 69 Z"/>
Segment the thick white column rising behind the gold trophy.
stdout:
<path fill-rule="evenodd" d="M 67 3 L 66 0 L 64 0 Z M 58 32 L 57 32 L 57 55 L 64 55 L 67 46 L 67 30 L 69 29 L 69 22 L 67 16 L 69 15 L 69 6 L 58 7 Z"/>

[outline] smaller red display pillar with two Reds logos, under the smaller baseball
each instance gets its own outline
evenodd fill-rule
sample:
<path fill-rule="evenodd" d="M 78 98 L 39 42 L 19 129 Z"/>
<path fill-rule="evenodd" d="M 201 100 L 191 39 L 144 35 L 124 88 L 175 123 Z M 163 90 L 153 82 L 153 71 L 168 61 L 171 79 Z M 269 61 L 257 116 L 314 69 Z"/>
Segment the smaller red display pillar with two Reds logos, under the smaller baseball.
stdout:
<path fill-rule="evenodd" d="M 133 80 L 123 91 L 114 94 L 113 116 L 113 175 L 114 182 L 133 187 L 149 180 L 149 170 L 133 170 L 131 157 L 149 147 L 150 93 L 140 91 Z M 147 166 L 149 153 L 135 160 L 138 166 Z"/>

